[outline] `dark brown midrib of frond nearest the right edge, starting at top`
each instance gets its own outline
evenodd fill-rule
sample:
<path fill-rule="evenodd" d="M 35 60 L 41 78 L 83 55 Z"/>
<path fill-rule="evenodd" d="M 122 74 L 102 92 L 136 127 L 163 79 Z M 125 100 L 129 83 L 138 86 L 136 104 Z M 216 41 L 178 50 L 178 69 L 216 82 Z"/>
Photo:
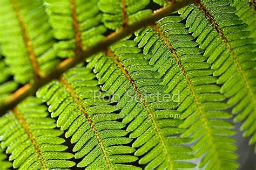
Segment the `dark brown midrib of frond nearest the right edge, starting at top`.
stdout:
<path fill-rule="evenodd" d="M 241 74 L 242 79 L 244 80 L 244 82 L 246 84 L 246 88 L 248 89 L 249 94 L 252 97 L 252 101 L 254 104 L 256 104 L 256 96 L 253 93 L 252 87 L 251 87 L 250 83 L 248 82 L 247 77 L 245 76 L 245 72 L 242 69 L 240 62 L 238 61 L 237 55 L 234 53 L 230 43 L 228 42 L 227 38 L 225 37 L 223 30 L 220 29 L 219 25 L 215 22 L 214 17 L 211 15 L 211 13 L 209 11 L 207 11 L 205 9 L 204 5 L 201 2 L 197 2 L 196 4 L 199 6 L 199 8 L 201 10 L 203 10 L 206 18 L 210 21 L 210 23 L 213 25 L 214 29 L 218 32 L 219 36 L 221 37 L 221 39 L 224 41 L 225 45 L 227 46 L 227 49 L 228 49 L 228 51 L 230 51 L 232 58 L 235 62 L 235 65 L 237 65 L 239 73 Z"/>

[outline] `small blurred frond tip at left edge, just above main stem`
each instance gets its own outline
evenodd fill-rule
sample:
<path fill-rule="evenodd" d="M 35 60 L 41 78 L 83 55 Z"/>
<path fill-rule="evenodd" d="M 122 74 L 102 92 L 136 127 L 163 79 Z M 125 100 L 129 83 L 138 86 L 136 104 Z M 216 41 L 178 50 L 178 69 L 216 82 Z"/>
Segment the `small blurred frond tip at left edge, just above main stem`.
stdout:
<path fill-rule="evenodd" d="M 4 63 L 3 56 L 1 55 L 0 48 L 0 104 L 3 103 L 13 91 L 18 87 L 18 84 L 15 81 L 9 80 L 11 76 L 10 68 L 7 67 Z"/>

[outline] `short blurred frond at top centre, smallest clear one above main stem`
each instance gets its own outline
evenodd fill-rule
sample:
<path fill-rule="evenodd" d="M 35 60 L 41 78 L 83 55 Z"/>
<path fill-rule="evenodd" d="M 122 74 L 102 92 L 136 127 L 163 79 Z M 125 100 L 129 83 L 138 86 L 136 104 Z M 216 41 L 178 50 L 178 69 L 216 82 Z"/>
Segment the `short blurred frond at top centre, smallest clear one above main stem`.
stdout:
<path fill-rule="evenodd" d="M 100 0 L 98 8 L 103 14 L 104 25 L 112 30 L 119 30 L 122 26 L 133 24 L 149 16 L 152 10 L 144 8 L 150 0 Z"/>

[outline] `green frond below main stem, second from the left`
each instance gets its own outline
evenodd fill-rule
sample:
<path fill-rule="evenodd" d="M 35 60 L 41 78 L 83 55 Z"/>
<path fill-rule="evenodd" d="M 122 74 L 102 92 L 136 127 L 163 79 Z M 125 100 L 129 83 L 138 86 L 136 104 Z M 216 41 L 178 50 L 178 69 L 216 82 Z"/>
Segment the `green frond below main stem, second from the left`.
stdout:
<path fill-rule="evenodd" d="M 132 139 L 125 137 L 125 124 L 117 120 L 117 107 L 109 105 L 97 85 L 90 69 L 77 67 L 43 87 L 37 96 L 50 105 L 52 117 L 58 116 L 57 126 L 67 130 L 65 136 L 75 144 L 75 158 L 83 158 L 77 167 L 137 169 L 127 164 L 138 158 L 130 155 L 134 148 L 125 146 Z"/>

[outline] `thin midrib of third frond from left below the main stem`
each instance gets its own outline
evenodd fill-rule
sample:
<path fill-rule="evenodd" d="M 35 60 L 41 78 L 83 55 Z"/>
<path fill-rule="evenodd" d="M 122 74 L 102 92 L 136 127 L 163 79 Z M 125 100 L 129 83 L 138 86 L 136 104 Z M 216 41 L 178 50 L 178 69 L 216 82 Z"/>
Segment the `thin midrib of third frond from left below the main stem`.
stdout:
<path fill-rule="evenodd" d="M 106 50 L 106 55 L 110 56 L 110 58 L 116 63 L 116 65 L 120 68 L 120 70 L 122 70 L 122 73 L 125 75 L 126 79 L 129 80 L 130 84 L 132 85 L 133 89 L 136 91 L 138 97 L 140 98 L 140 100 L 142 101 L 147 113 L 149 114 L 149 117 L 154 125 L 154 129 L 156 129 L 157 131 L 157 135 L 161 141 L 161 144 L 163 145 L 163 150 L 165 152 L 165 155 L 167 157 L 167 160 L 169 162 L 170 165 L 170 169 L 173 169 L 173 162 L 171 160 L 171 155 L 168 152 L 168 148 L 167 148 L 167 144 L 164 141 L 163 135 L 160 132 L 160 129 L 157 125 L 156 120 L 154 119 L 154 115 L 152 113 L 152 111 L 150 110 L 149 105 L 147 104 L 145 98 L 143 97 L 142 93 L 140 92 L 139 88 L 136 86 L 136 83 L 134 82 L 134 80 L 132 80 L 131 75 L 127 72 L 127 70 L 124 68 L 124 66 L 122 65 L 122 63 L 119 61 L 119 59 L 117 58 L 116 55 L 114 55 L 113 52 L 110 51 L 110 49 Z"/>

